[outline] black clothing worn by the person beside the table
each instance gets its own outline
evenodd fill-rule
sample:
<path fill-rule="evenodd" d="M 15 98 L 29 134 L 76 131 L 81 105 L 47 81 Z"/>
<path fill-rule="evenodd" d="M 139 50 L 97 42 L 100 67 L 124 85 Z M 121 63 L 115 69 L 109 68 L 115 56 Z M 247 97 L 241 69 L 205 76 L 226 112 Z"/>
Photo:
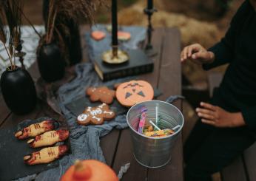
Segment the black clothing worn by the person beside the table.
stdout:
<path fill-rule="evenodd" d="M 184 146 L 186 181 L 210 180 L 211 174 L 255 143 L 256 13 L 249 1 L 243 2 L 225 37 L 209 51 L 215 53 L 215 61 L 203 69 L 229 63 L 211 103 L 228 112 L 242 112 L 246 126 L 223 129 L 198 120 Z"/>

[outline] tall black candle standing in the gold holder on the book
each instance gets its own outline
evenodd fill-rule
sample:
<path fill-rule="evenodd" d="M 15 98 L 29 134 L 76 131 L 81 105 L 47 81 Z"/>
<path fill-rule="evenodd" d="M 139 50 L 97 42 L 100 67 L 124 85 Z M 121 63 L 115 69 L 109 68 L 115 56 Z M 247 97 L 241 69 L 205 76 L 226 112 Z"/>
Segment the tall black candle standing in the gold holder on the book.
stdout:
<path fill-rule="evenodd" d="M 112 46 L 118 45 L 118 4 L 112 0 Z"/>

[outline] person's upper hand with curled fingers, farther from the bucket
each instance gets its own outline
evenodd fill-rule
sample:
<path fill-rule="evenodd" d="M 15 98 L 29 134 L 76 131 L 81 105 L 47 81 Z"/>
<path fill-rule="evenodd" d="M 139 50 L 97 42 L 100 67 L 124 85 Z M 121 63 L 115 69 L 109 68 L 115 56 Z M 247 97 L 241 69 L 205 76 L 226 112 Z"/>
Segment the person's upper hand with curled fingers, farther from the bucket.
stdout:
<path fill-rule="evenodd" d="M 201 44 L 192 44 L 185 47 L 181 52 L 181 62 L 193 61 L 195 64 L 209 64 L 215 59 L 213 52 L 207 51 Z"/>

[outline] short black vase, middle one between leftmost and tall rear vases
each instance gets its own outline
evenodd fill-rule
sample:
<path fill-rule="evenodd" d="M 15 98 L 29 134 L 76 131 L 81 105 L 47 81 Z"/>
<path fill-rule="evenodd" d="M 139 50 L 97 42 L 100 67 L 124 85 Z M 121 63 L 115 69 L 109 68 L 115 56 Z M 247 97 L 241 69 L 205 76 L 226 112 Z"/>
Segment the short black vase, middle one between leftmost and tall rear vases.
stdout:
<path fill-rule="evenodd" d="M 38 69 L 47 82 L 61 80 L 65 73 L 65 61 L 56 43 L 41 44 L 37 50 Z"/>

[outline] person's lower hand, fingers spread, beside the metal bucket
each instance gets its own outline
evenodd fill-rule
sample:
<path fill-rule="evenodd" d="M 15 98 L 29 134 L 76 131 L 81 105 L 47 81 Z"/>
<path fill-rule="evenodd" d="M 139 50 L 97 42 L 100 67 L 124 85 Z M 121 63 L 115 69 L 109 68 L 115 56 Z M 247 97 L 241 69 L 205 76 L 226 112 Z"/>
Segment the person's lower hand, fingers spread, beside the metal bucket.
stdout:
<path fill-rule="evenodd" d="M 245 125 L 243 116 L 240 112 L 226 112 L 219 106 L 209 103 L 200 103 L 202 108 L 195 109 L 203 123 L 216 127 L 238 127 Z"/>

